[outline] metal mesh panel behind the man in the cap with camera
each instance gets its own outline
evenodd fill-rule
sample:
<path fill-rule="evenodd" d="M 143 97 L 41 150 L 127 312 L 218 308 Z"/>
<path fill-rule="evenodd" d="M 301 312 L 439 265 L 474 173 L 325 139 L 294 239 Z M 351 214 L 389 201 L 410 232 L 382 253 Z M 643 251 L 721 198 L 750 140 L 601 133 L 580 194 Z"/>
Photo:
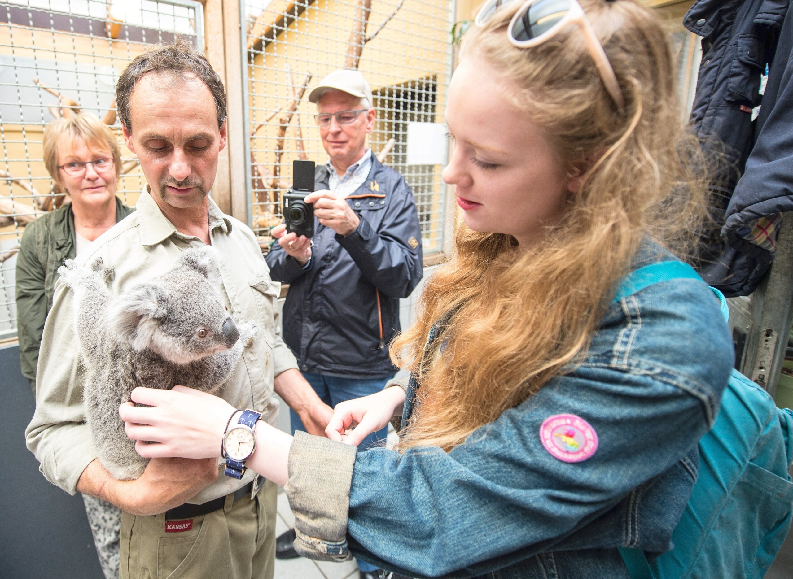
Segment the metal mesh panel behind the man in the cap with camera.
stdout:
<path fill-rule="evenodd" d="M 309 92 L 331 71 L 357 64 L 377 110 L 369 146 L 411 186 L 425 253 L 442 249 L 442 165 L 408 164 L 407 144 L 408 123 L 443 123 L 453 10 L 450 0 L 243 0 L 247 186 L 262 247 L 282 220 L 293 159 L 328 162 Z"/>

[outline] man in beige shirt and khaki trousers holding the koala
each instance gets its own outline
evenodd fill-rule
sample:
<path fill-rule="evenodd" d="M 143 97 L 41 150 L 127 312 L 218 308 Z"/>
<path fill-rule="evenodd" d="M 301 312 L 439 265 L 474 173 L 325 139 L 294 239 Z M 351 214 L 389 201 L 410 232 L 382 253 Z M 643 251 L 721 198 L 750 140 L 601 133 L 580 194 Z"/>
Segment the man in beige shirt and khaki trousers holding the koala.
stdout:
<path fill-rule="evenodd" d="M 137 211 L 94 242 L 78 265 L 102 258 L 114 268 L 113 295 L 169 271 L 182 251 L 211 244 L 220 268 L 220 299 L 229 316 L 259 331 L 232 369 L 220 396 L 271 424 L 277 392 L 308 431 L 322 435 L 332 410 L 297 370 L 282 341 L 276 300 L 259 244 L 247 226 L 210 199 L 226 144 L 226 99 L 212 67 L 182 40 L 138 56 L 117 84 L 117 109 L 128 148 L 148 186 Z M 167 314 L 166 314 L 167 316 Z M 136 480 L 114 479 L 98 460 L 86 424 L 86 360 L 75 328 L 75 292 L 59 282 L 44 328 L 36 412 L 25 436 L 53 484 L 108 500 L 121 520 L 121 577 L 272 577 L 276 486 L 218 477 L 215 459 L 153 458 Z M 199 336 L 201 337 L 201 336 Z M 84 344 L 83 344 L 84 346 Z M 109 381 L 113 382 L 113 381 Z M 190 384 L 185 384 L 190 386 Z M 107 388 L 117 387 L 109 383 Z"/>

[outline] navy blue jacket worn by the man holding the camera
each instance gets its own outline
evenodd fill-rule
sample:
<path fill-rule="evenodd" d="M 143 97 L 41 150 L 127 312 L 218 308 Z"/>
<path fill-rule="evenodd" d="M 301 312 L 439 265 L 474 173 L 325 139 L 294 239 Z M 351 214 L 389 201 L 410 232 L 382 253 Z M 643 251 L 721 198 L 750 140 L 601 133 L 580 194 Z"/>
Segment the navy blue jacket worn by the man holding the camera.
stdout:
<path fill-rule="evenodd" d="M 317 167 L 316 190 L 328 189 Z M 389 342 L 400 331 L 399 298 L 422 276 L 421 229 L 404 178 L 377 159 L 366 181 L 347 197 L 361 223 L 349 236 L 314 218 L 306 269 L 273 243 L 270 276 L 289 284 L 283 338 L 304 372 L 341 378 L 384 378 L 397 369 Z"/>

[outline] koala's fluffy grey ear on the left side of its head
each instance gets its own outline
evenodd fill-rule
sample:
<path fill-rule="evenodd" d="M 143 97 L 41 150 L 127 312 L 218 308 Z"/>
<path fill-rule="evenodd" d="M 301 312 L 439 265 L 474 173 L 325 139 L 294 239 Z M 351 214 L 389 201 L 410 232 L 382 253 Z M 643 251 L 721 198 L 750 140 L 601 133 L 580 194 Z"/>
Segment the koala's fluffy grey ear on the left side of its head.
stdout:
<path fill-rule="evenodd" d="M 132 343 L 136 350 L 143 350 L 151 342 L 157 328 L 157 320 L 167 312 L 167 293 L 162 286 L 145 283 L 132 288 L 113 301 L 108 310 L 111 327 Z"/>

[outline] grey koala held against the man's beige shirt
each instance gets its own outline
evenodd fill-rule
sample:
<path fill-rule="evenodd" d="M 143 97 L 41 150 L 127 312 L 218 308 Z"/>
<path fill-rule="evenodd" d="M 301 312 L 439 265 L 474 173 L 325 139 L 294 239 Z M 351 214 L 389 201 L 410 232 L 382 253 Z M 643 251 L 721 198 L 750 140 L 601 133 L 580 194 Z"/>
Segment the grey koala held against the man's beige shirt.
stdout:
<path fill-rule="evenodd" d="M 75 328 L 86 360 L 84 401 L 99 460 L 113 477 L 140 477 L 148 462 L 127 438 L 118 407 L 136 386 L 183 384 L 219 393 L 259 331 L 226 313 L 213 247 L 182 251 L 173 269 L 113 297 L 102 259 L 58 270 L 75 292 Z M 238 326 L 239 324 L 239 326 Z"/>

